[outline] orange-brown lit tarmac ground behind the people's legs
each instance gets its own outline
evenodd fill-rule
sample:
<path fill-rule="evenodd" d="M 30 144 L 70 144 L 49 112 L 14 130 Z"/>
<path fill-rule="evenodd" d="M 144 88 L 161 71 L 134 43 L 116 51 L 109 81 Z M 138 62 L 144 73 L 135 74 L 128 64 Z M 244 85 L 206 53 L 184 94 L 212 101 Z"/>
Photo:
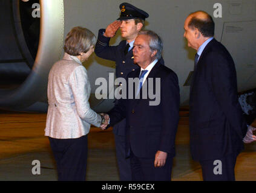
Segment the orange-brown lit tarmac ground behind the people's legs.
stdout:
<path fill-rule="evenodd" d="M 189 151 L 188 111 L 180 111 L 173 181 L 202 181 L 198 162 Z M 56 181 L 57 171 L 48 138 L 46 113 L 0 112 L 0 180 Z M 36 160 L 36 161 L 34 161 Z M 34 163 L 35 162 L 35 163 Z M 256 142 L 245 144 L 235 166 L 237 181 L 256 180 Z M 112 129 L 91 127 L 88 134 L 87 181 L 118 181 Z"/>

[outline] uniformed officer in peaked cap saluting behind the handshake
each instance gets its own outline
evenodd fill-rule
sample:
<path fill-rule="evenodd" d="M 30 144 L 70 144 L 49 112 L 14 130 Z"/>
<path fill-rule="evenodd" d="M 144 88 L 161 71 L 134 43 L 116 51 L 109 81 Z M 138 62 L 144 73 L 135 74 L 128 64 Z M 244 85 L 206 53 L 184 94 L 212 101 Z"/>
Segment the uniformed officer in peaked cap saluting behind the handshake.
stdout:
<path fill-rule="evenodd" d="M 108 25 L 106 30 L 99 30 L 94 51 L 98 57 L 116 62 L 116 78 L 126 78 L 129 72 L 139 68 L 133 62 L 133 52 L 131 50 L 137 34 L 145 26 L 145 19 L 149 15 L 128 3 L 120 4 L 119 8 L 121 14 L 117 21 Z M 110 39 L 116 35 L 116 31 L 119 28 L 122 38 L 125 40 L 122 40 L 117 46 L 110 46 Z M 116 103 L 118 103 L 117 100 Z M 116 124 L 113 132 L 120 180 L 131 180 L 130 159 L 125 157 L 125 122 L 124 119 L 119 124 Z"/>

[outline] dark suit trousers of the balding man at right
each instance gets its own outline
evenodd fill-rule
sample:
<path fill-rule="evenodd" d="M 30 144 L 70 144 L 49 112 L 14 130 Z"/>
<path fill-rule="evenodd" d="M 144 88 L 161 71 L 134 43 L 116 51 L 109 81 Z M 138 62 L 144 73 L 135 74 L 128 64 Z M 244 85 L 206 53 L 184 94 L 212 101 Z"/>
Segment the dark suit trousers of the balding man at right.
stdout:
<path fill-rule="evenodd" d="M 236 154 L 229 154 L 222 159 L 200 161 L 200 165 L 202 166 L 203 180 L 234 181 L 236 160 Z"/>

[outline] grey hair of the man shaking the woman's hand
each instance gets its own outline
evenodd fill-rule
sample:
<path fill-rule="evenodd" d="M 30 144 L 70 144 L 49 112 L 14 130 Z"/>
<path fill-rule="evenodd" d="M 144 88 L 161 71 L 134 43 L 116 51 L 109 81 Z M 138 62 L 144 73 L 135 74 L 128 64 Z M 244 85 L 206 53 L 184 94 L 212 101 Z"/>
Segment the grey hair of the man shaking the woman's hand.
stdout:
<path fill-rule="evenodd" d="M 157 51 L 155 58 L 157 60 L 160 60 L 162 57 L 163 42 L 159 35 L 157 35 L 156 33 L 154 33 L 154 31 L 151 30 L 142 30 L 138 33 L 138 35 L 146 35 L 150 37 L 149 48 L 151 52 Z"/>

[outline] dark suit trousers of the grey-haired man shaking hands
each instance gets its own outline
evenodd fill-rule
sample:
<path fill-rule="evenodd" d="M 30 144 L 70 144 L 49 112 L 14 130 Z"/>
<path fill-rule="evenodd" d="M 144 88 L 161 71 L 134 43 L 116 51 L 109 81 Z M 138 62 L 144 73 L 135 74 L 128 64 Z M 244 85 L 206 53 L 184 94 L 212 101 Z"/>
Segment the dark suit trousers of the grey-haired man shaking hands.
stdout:
<path fill-rule="evenodd" d="M 154 159 L 143 159 L 131 152 L 131 175 L 134 181 L 171 181 L 172 158 L 163 167 L 155 168 Z"/>

